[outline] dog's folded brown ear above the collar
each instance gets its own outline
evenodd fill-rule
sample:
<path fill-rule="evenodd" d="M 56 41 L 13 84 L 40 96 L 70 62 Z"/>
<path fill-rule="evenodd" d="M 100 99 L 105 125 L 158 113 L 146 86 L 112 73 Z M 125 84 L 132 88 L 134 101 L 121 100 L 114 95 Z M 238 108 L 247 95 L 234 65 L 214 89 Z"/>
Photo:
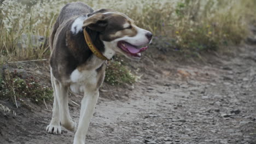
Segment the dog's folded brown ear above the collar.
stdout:
<path fill-rule="evenodd" d="M 108 22 L 105 19 L 104 14 L 102 13 L 96 13 L 88 19 L 86 19 L 83 23 L 83 28 L 88 27 L 94 31 L 102 32 L 107 27 Z"/>

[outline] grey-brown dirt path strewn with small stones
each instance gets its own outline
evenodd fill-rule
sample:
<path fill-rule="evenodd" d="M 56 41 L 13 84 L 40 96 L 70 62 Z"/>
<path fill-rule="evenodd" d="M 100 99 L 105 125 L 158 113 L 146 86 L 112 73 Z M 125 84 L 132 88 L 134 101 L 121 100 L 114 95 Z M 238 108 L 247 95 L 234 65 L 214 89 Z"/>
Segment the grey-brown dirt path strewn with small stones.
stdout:
<path fill-rule="evenodd" d="M 234 55 L 209 55 L 204 62 L 171 61 L 152 52 L 129 62 L 141 79 L 133 86 L 104 83 L 86 143 L 256 143 L 256 46 L 242 45 Z M 154 54 L 153 54 L 154 53 Z M 37 70 L 50 83 L 46 62 Z M 39 67 L 38 67 L 39 65 Z M 25 67 L 25 66 L 24 66 Z M 34 69 L 35 70 L 35 69 Z M 71 98 L 80 104 L 81 97 Z M 48 134 L 50 103 L 0 112 L 0 143 L 72 143 L 74 134 Z M 69 103 L 78 122 L 80 107 Z"/>

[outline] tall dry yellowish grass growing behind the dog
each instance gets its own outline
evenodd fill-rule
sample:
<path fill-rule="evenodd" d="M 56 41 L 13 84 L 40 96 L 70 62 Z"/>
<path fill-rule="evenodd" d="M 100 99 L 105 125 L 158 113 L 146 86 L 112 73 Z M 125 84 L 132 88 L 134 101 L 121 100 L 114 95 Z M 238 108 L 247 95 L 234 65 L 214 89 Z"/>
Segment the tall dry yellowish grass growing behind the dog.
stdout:
<path fill-rule="evenodd" d="M 71 0 L 1 0 L 1 59 L 15 61 L 48 57 L 48 47 L 45 44 L 35 45 L 34 35 L 49 37 L 57 14 L 67 2 Z M 155 35 L 169 38 L 169 41 L 164 41 L 167 48 L 182 52 L 216 50 L 222 45 L 240 43 L 248 34 L 248 22 L 255 18 L 256 13 L 255 0 L 82 2 L 94 9 L 112 8 L 121 11 L 135 20 L 138 26 L 149 29 Z M 47 43 L 47 40 L 44 42 Z M 22 47 L 24 43 L 25 47 Z"/>

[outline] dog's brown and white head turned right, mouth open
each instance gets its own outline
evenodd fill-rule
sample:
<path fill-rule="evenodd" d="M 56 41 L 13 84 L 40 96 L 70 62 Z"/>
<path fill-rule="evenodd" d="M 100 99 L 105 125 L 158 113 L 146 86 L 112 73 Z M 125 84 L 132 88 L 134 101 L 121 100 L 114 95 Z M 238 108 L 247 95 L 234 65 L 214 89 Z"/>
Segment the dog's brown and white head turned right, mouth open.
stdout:
<path fill-rule="evenodd" d="M 100 33 L 105 49 L 121 53 L 130 59 L 141 58 L 141 52 L 148 49 L 152 33 L 139 28 L 128 16 L 109 9 L 100 9 L 88 15 L 83 28 L 88 27 Z"/>

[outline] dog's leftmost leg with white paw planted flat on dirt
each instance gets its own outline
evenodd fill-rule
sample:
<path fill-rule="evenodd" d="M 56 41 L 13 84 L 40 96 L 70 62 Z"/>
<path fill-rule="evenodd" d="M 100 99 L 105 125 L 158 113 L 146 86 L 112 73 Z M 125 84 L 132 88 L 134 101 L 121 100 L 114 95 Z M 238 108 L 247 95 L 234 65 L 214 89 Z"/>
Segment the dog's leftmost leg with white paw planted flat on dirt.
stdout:
<path fill-rule="evenodd" d="M 54 134 L 61 134 L 61 124 L 60 124 L 60 100 L 59 100 L 59 89 L 58 86 L 59 82 L 53 76 L 52 70 L 51 72 L 51 85 L 53 86 L 54 90 L 54 104 L 53 104 L 53 117 L 51 118 L 50 124 L 46 127 L 46 131 L 48 133 Z"/>

